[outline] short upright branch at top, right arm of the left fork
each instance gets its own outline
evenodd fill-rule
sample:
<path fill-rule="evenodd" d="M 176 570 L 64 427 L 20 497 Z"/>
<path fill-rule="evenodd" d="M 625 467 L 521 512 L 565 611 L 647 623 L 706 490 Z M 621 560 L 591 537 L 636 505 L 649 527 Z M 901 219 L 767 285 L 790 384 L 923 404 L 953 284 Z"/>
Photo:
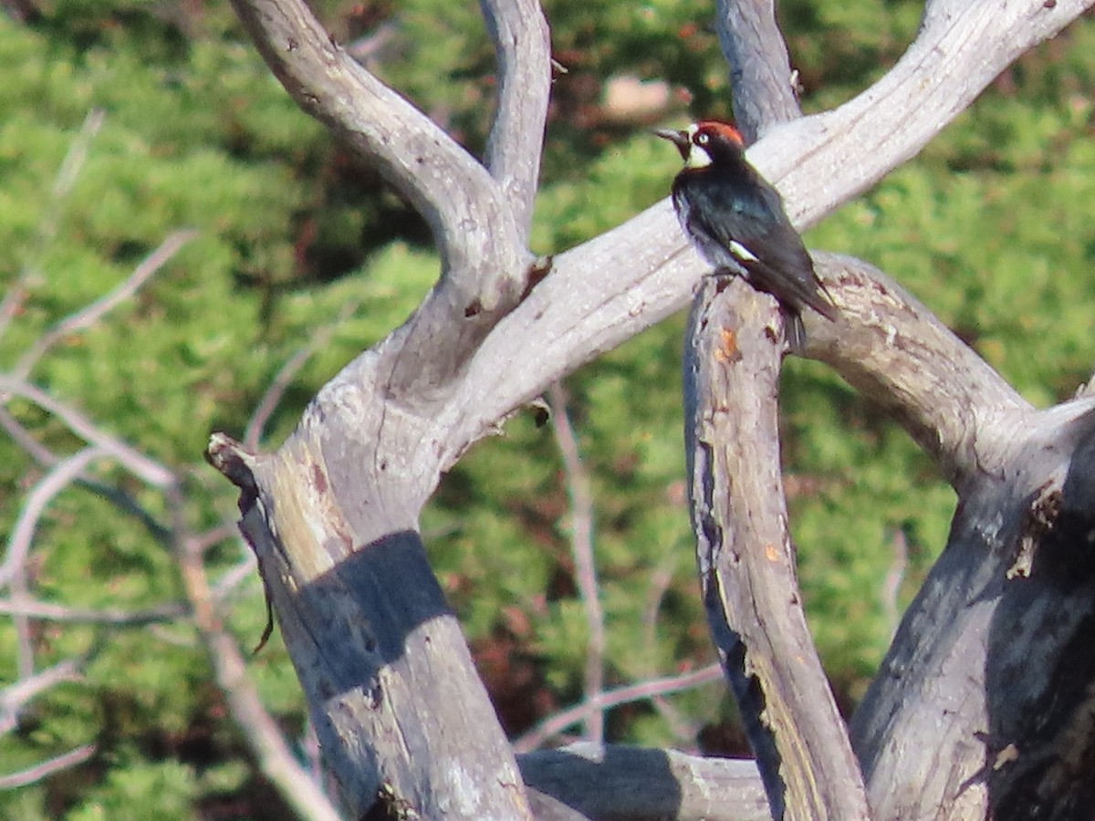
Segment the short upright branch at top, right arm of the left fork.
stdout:
<path fill-rule="evenodd" d="M 498 109 L 486 167 L 509 200 L 526 243 L 551 93 L 551 36 L 538 0 L 480 0 L 480 7 L 498 60 Z"/>

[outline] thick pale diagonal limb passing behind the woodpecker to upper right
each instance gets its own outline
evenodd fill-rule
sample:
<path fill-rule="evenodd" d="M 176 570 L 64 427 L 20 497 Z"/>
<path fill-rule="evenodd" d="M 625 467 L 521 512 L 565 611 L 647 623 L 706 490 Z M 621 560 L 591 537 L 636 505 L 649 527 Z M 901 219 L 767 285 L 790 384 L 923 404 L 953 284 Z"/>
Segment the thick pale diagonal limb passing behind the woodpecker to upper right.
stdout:
<path fill-rule="evenodd" d="M 1092 4 L 935 3 L 881 80 L 834 111 L 775 126 L 749 159 L 779 186 L 796 224 L 812 224 L 915 154 L 1015 56 Z M 466 391 L 453 397 L 461 409 L 445 419 L 457 428 L 443 466 L 554 379 L 683 308 L 706 269 L 667 200 L 557 254 L 551 275 L 476 351 Z"/>

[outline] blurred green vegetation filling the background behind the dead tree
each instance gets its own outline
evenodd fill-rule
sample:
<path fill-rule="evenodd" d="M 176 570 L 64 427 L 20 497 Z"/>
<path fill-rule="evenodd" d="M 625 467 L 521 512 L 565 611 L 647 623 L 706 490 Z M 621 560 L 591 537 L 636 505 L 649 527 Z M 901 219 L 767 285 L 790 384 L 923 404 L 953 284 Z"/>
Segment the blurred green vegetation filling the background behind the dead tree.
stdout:
<path fill-rule="evenodd" d="M 678 159 L 647 125 L 730 111 L 707 3 L 545 7 L 566 73 L 556 78 L 533 231 L 541 253 L 665 196 Z M 341 38 L 389 32 L 370 67 L 470 149 L 484 143 L 492 49 L 473 3 L 313 8 Z M 804 106 L 838 104 L 880 76 L 919 11 L 906 0 L 783 3 Z M 1070 395 L 1095 360 L 1093 41 L 1083 24 L 1024 57 L 920 158 L 807 238 L 896 277 L 1041 405 Z M 437 261 L 420 221 L 297 111 L 226 4 L 43 0 L 26 20 L 0 18 L 0 282 L 25 290 L 0 336 L 0 369 L 122 282 L 172 231 L 197 229 L 137 298 L 62 339 L 31 378 L 184 476 L 192 527 L 231 520 L 232 488 L 200 461 L 209 431 L 242 432 L 283 363 L 359 302 L 291 384 L 268 428 L 266 444 L 276 447 L 320 385 L 429 288 Z M 622 76 L 668 80 L 666 107 L 619 116 L 603 95 Z M 102 126 L 81 136 L 93 109 Z M 68 186 L 59 170 L 81 146 Z M 610 685 L 714 658 L 683 499 L 682 325 L 673 317 L 567 383 L 596 498 Z M 826 368 L 788 363 L 783 401 L 802 583 L 839 697 L 853 705 L 894 627 L 884 578 L 907 553 L 897 605 L 906 603 L 945 542 L 954 496 L 908 437 Z M 28 403 L 8 409 L 55 452 L 78 447 Z M 155 494 L 116 469 L 93 472 L 163 514 Z M 0 438 L 5 531 L 42 476 Z M 504 438 L 479 444 L 423 527 L 507 729 L 519 733 L 578 699 L 585 616 L 550 426 L 519 416 Z M 218 577 L 242 557 L 226 539 L 207 565 Z M 36 598 L 69 606 L 136 611 L 183 598 L 155 534 L 78 486 L 50 506 L 30 568 Z M 252 646 L 265 617 L 254 577 L 231 608 L 231 629 Z M 0 738 L 3 772 L 81 744 L 97 752 L 0 795 L 0 817 L 285 816 L 227 717 L 192 628 L 35 622 L 34 647 L 38 669 L 80 654 L 92 660 L 82 680 L 36 698 Z M 15 659 L 3 617 L 0 686 L 15 680 Z M 284 649 L 275 639 L 250 664 L 265 703 L 299 738 L 304 707 Z M 613 710 L 611 738 L 739 749 L 722 687 L 671 703 L 673 713 Z"/>

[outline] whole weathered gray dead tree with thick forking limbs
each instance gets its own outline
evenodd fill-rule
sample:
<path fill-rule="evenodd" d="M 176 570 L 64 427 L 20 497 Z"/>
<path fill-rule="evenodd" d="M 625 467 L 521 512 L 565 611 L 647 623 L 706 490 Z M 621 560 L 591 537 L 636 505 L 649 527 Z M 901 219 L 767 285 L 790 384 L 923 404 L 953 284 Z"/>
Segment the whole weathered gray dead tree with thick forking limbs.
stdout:
<path fill-rule="evenodd" d="M 293 99 L 415 205 L 441 256 L 407 322 L 327 383 L 276 452 L 219 435 L 209 448 L 240 488 L 241 527 L 348 817 L 763 817 L 757 776 L 736 765 L 701 772 L 669 753 L 610 749 L 528 756 L 519 772 L 417 529 L 473 442 L 693 291 L 684 404 L 699 567 L 771 812 L 1090 814 L 1095 398 L 1031 407 L 881 273 L 815 255 L 841 317 L 807 317 L 809 356 L 890 412 L 959 497 L 949 543 L 849 730 L 795 583 L 774 303 L 703 282 L 667 201 L 553 258 L 528 251 L 551 80 L 535 0 L 481 2 L 498 63 L 482 161 L 357 65 L 302 0 L 233 3 Z M 739 126 L 757 139 L 750 160 L 804 228 L 915 154 L 1088 5 L 927 0 L 892 70 L 802 117 L 771 0 L 724 0 L 717 26 Z M 668 787 L 660 805 L 612 791 L 627 767 L 632 784 Z"/>

